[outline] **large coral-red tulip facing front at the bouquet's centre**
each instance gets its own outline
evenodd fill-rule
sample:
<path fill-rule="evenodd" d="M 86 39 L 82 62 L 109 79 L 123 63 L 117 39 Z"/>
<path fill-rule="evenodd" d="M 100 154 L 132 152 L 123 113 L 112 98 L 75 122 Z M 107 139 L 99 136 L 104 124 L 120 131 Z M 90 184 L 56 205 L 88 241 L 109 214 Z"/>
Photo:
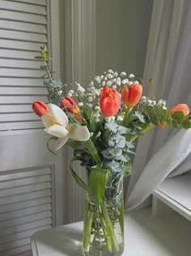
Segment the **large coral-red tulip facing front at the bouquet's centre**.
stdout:
<path fill-rule="evenodd" d="M 116 115 L 121 107 L 121 95 L 116 89 L 109 89 L 104 86 L 100 92 L 100 109 L 104 117 Z"/>

